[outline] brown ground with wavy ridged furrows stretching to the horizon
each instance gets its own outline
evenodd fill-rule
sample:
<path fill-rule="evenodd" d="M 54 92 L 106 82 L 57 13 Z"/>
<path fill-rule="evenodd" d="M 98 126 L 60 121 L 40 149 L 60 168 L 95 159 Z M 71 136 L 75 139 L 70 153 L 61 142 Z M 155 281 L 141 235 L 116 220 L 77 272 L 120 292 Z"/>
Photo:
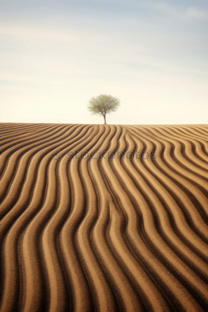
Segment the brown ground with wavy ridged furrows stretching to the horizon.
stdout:
<path fill-rule="evenodd" d="M 0 312 L 207 311 L 207 134 L 0 124 Z"/>

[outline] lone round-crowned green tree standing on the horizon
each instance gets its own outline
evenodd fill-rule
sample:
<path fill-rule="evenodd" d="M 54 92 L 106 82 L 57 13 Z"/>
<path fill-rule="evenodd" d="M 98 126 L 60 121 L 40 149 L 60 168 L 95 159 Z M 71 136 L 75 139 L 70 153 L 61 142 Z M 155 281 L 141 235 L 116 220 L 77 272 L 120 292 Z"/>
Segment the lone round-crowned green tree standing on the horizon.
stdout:
<path fill-rule="evenodd" d="M 92 115 L 102 115 L 106 124 L 106 114 L 115 112 L 120 106 L 120 99 L 112 95 L 101 94 L 89 100 L 88 110 Z"/>

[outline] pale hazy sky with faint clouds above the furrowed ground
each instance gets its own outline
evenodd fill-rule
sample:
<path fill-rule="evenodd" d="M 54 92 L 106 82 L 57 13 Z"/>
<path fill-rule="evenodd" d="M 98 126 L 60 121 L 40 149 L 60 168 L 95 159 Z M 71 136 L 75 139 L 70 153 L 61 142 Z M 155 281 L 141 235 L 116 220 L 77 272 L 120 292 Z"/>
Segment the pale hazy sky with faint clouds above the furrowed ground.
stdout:
<path fill-rule="evenodd" d="M 208 1 L 0 0 L 1 122 L 208 123 Z"/>

